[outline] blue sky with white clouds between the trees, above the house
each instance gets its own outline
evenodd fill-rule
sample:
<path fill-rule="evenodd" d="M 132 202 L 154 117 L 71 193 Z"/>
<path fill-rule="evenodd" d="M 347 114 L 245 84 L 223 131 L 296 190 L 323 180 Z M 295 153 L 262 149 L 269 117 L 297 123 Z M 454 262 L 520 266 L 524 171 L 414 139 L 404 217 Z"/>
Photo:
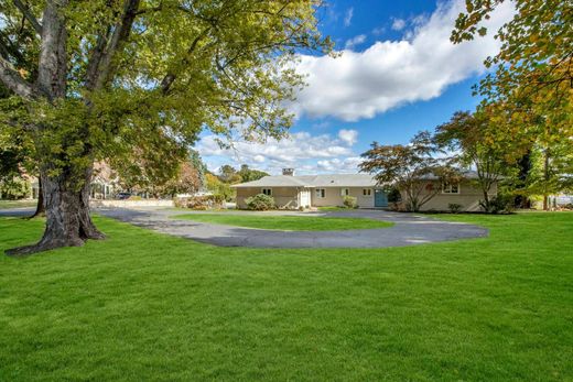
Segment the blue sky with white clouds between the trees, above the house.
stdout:
<path fill-rule="evenodd" d="M 497 53 L 496 31 L 512 15 L 510 2 L 496 9 L 488 33 L 458 45 L 450 42 L 464 0 L 329 0 L 320 30 L 342 51 L 337 58 L 301 55 L 298 70 L 307 86 L 290 106 L 289 137 L 264 144 L 236 141 L 220 149 L 204 132 L 196 144 L 207 167 L 224 164 L 278 175 L 357 173 L 360 153 L 374 141 L 403 144 L 433 130 L 479 99 L 472 86 L 485 74 L 484 59 Z"/>

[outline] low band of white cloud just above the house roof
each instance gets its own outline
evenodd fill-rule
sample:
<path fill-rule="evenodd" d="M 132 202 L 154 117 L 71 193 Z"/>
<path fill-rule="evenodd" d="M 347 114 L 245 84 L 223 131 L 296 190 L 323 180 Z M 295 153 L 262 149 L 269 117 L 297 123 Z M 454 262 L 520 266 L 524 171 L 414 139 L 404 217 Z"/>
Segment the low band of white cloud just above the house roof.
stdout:
<path fill-rule="evenodd" d="M 299 173 L 320 173 L 325 171 L 356 172 L 356 154 L 353 145 L 358 140 L 356 130 L 342 129 L 331 134 L 313 135 L 296 132 L 277 141 L 266 143 L 235 142 L 233 149 L 220 148 L 215 135 L 204 137 L 196 150 L 209 168 L 223 164 L 248 164 L 255 168 L 279 174 L 283 167 L 294 167 Z"/>

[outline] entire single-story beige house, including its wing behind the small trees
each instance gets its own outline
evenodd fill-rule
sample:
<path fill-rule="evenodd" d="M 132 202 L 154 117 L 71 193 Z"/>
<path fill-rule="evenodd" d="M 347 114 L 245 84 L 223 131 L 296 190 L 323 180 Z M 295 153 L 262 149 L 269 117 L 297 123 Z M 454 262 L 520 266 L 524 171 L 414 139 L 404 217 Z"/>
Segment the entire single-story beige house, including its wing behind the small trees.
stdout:
<path fill-rule="evenodd" d="M 447 210 L 450 204 L 461 205 L 461 210 L 479 210 L 483 199 L 480 189 L 472 184 L 476 174 L 464 173 L 464 179 L 452 185 L 440 184 L 437 178 L 428 177 L 428 192 L 440 187 L 422 210 Z M 328 174 L 295 176 L 292 168 L 283 175 L 264 176 L 258 181 L 233 185 L 237 190 L 237 207 L 247 208 L 247 199 L 258 194 L 272 196 L 279 208 L 298 209 L 309 207 L 336 207 L 344 205 L 345 196 L 353 196 L 359 208 L 388 207 L 388 197 L 381 186 L 369 174 Z M 493 187 L 491 196 L 497 195 Z M 402 199 L 406 195 L 402 193 Z"/>

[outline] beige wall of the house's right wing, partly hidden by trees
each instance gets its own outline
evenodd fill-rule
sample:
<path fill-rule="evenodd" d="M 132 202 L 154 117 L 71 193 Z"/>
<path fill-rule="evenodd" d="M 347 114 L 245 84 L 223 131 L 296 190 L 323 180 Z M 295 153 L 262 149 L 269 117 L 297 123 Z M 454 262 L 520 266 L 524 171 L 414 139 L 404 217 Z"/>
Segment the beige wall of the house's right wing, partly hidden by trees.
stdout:
<path fill-rule="evenodd" d="M 442 187 L 439 182 L 433 182 L 434 187 Z M 490 196 L 497 195 L 497 185 L 494 185 L 489 190 Z M 402 193 L 402 199 L 404 199 L 404 195 Z M 437 194 L 430 201 L 424 204 L 421 208 L 422 211 L 428 210 L 439 210 L 439 211 L 447 211 L 450 210 L 450 204 L 458 204 L 462 206 L 463 211 L 479 211 L 479 201 L 483 199 L 482 189 L 475 187 L 469 182 L 460 183 L 460 194 Z"/>

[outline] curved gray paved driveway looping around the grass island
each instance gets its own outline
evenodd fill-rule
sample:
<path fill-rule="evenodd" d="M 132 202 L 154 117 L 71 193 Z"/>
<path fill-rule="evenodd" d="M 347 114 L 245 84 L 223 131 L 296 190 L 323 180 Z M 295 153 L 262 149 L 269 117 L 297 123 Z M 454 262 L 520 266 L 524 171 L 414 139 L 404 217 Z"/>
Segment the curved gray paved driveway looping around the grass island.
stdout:
<path fill-rule="evenodd" d="M 429 242 L 487 237 L 485 228 L 432 219 L 425 216 L 382 210 L 352 210 L 332 212 L 228 212 L 262 215 L 302 215 L 356 217 L 393 221 L 382 229 L 348 231 L 274 231 L 172 219 L 175 215 L 193 214 L 159 208 L 96 209 L 98 214 L 155 231 L 193 239 L 220 247 L 255 248 L 383 248 Z"/>

